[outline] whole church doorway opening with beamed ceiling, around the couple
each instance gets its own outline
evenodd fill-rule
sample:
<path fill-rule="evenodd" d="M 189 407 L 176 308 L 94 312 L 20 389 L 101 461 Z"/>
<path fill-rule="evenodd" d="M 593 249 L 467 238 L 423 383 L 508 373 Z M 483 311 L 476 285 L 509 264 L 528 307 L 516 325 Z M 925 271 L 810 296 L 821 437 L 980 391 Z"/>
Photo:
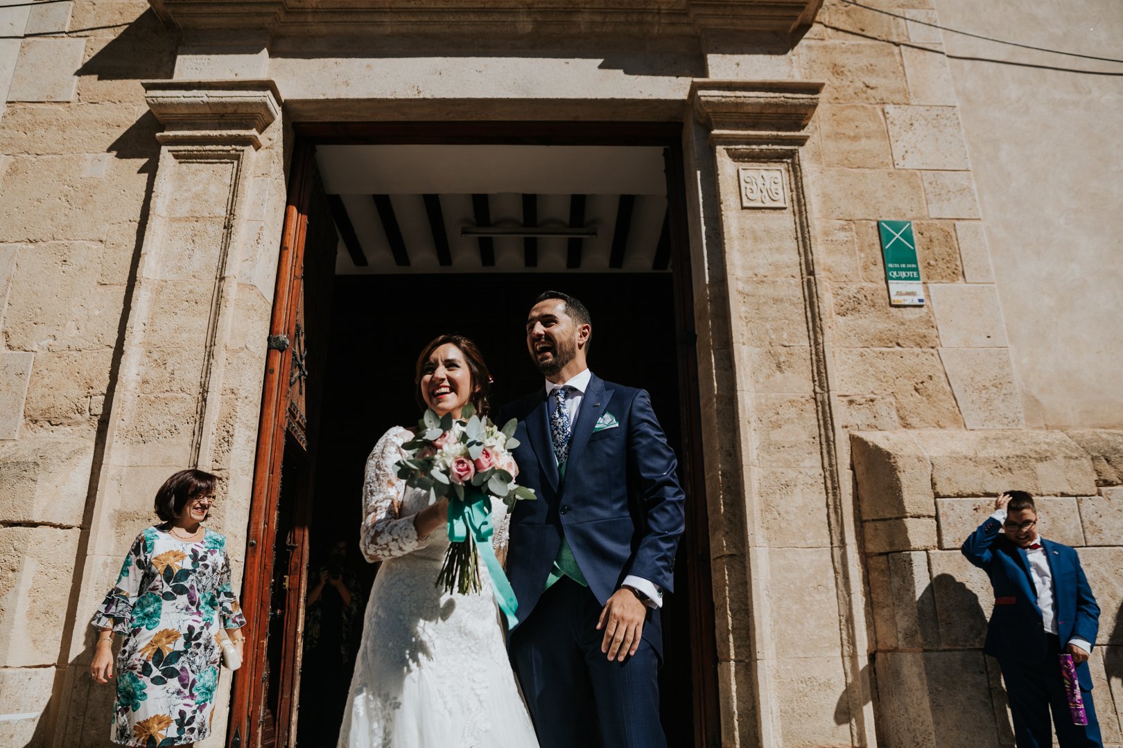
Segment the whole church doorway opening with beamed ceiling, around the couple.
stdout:
<path fill-rule="evenodd" d="M 676 748 L 720 745 L 679 126 L 395 123 L 298 131 L 271 348 L 273 339 L 300 338 L 294 299 L 307 279 L 326 278 L 312 298 L 330 299 L 331 311 L 321 305 L 313 316 L 326 329 L 307 345 L 271 350 L 266 366 L 243 597 L 256 629 L 272 636 L 258 637 L 235 678 L 229 745 L 335 745 L 376 574 L 357 548 L 367 454 L 390 426 L 418 418 L 414 358 L 438 333 L 477 341 L 495 378 L 496 405 L 541 387 L 522 327 L 546 288 L 588 305 L 593 370 L 648 389 L 678 454 L 687 527 L 676 592 L 664 607 L 661 718 Z M 462 148 L 414 147 L 449 144 Z M 357 148 L 329 148 L 341 145 Z M 481 145 L 492 148 L 463 148 Z M 563 148 L 544 148 L 551 146 Z M 313 194 L 318 173 L 326 197 Z M 335 246 L 312 236 L 323 225 L 337 232 Z M 520 227 L 555 233 L 502 233 Z M 477 232 L 469 239 L 467 228 L 496 238 Z M 588 228 L 596 231 L 574 238 L 573 230 Z M 326 267 L 332 261 L 334 277 Z M 284 331 L 287 338 L 279 334 Z M 293 410 L 284 388 L 302 386 L 304 375 L 322 388 L 322 401 Z M 302 455 L 290 459 L 290 437 Z M 296 462 L 299 474 L 290 470 Z M 289 512 L 281 499 L 293 482 L 300 488 Z M 252 555 L 259 563 L 250 564 Z M 284 620 L 283 631 L 272 630 L 273 618 Z"/>

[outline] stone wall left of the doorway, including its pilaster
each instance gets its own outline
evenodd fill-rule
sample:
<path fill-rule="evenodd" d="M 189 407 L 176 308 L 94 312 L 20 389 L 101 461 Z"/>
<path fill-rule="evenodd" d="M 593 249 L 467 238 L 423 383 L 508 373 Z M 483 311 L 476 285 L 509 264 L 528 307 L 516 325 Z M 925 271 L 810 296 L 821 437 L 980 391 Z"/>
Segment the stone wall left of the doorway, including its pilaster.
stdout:
<path fill-rule="evenodd" d="M 146 90 L 177 45 L 146 2 L 0 28 L 0 744 L 102 745 L 89 619 L 156 488 L 218 473 L 245 545 L 285 140 L 268 85 Z"/>

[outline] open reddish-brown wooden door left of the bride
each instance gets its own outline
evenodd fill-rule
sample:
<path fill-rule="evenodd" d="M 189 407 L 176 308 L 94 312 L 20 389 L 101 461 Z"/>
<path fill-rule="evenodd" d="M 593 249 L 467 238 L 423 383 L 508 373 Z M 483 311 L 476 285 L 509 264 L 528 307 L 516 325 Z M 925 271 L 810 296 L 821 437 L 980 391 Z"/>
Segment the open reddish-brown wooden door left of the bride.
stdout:
<path fill-rule="evenodd" d="M 336 243 L 314 148 L 298 147 L 270 324 L 241 598 L 247 646 L 234 680 L 230 748 L 289 746 L 295 736 Z"/>

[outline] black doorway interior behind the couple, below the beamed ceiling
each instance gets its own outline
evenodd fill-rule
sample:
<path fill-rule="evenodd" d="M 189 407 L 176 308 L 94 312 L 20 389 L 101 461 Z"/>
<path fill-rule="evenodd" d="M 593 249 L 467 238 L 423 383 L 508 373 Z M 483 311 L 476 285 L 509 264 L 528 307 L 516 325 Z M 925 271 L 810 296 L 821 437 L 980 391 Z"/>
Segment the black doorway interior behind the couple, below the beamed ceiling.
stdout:
<path fill-rule="evenodd" d="M 591 368 L 603 379 L 646 388 L 672 446 L 682 454 L 670 274 L 339 276 L 332 294 L 331 349 L 312 492 L 310 590 L 316 584 L 316 560 L 326 557 L 328 546 L 340 537 L 348 541 L 346 565 L 357 574 L 364 599 L 371 588 L 375 569 L 357 550 L 364 463 L 387 428 L 418 419 L 413 367 L 421 348 L 444 332 L 473 338 L 495 378 L 496 405 L 542 387 L 522 327 L 535 296 L 547 288 L 585 302 L 593 315 Z M 663 722 L 672 746 L 693 744 L 687 555 L 678 555 L 675 575 L 681 592 L 668 595 L 663 619 Z M 332 603 L 335 610 L 343 609 L 340 603 Z M 357 639 L 362 619 L 348 629 Z M 353 640 L 349 649 L 356 648 Z M 349 682 L 349 669 L 336 675 L 334 684 L 307 677 L 312 661 L 305 649 L 301 748 L 335 745 L 335 736 L 323 731 L 318 718 L 318 728 L 305 732 L 305 718 L 340 710 Z M 338 715 L 335 719 L 338 730 Z"/>

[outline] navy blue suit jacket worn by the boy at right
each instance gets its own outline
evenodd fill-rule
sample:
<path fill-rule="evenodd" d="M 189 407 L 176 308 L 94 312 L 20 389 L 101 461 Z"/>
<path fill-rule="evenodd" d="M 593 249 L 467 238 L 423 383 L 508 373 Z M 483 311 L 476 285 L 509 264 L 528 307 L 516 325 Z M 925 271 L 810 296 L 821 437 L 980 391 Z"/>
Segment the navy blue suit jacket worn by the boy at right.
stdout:
<path fill-rule="evenodd" d="M 1046 629 L 1038 607 L 1038 592 L 1030 576 L 1025 551 L 998 529 L 1002 524 L 987 517 L 964 541 L 962 552 L 976 566 L 986 571 L 994 588 L 994 612 L 987 626 L 983 652 L 998 658 L 1039 663 L 1046 658 Z M 1096 644 L 1099 631 L 1099 606 L 1080 567 L 1076 551 L 1061 543 L 1040 539 L 1052 572 L 1053 613 L 1060 645 L 1072 637 Z M 1088 664 L 1077 665 L 1080 687 L 1092 690 Z"/>

